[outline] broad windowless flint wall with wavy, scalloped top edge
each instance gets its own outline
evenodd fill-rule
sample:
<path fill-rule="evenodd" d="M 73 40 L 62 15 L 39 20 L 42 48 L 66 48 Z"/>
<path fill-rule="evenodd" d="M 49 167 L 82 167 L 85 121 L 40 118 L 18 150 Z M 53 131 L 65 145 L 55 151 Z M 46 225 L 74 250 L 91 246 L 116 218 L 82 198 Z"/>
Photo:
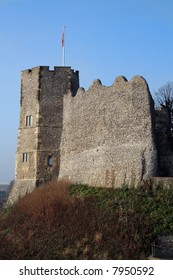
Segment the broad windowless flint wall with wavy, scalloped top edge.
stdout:
<path fill-rule="evenodd" d="M 157 172 L 154 109 L 146 81 L 94 81 L 64 96 L 59 178 L 94 186 L 137 184 Z"/>

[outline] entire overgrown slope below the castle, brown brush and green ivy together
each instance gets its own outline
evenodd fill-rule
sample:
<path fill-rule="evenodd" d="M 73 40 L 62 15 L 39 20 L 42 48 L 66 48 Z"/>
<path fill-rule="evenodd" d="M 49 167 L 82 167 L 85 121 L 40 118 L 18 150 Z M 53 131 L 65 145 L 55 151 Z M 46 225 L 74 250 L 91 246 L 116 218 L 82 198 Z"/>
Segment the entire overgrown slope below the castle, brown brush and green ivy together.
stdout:
<path fill-rule="evenodd" d="M 51 182 L 0 217 L 0 259 L 147 259 L 173 233 L 173 190 Z"/>

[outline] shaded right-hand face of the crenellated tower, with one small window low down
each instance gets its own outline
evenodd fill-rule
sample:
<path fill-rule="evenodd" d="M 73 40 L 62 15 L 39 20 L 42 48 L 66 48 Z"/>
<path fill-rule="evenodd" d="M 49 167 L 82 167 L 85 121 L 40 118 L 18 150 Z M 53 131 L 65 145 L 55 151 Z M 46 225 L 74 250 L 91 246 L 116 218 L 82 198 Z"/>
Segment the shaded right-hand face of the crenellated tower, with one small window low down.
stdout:
<path fill-rule="evenodd" d="M 39 130 L 37 148 L 37 184 L 58 177 L 62 132 L 63 96 L 71 92 L 70 67 L 41 67 Z M 52 166 L 48 165 L 52 157 Z"/>

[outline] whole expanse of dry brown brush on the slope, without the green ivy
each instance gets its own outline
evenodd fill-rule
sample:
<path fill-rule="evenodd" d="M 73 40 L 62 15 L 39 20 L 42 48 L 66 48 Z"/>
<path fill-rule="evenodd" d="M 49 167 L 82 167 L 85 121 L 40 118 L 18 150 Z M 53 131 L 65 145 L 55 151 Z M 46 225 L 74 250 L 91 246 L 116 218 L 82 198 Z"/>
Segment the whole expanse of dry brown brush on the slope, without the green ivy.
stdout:
<path fill-rule="evenodd" d="M 16 204 L 1 225 L 0 259 L 141 258 L 148 217 L 100 207 L 95 197 L 74 198 L 69 185 L 49 182 Z"/>

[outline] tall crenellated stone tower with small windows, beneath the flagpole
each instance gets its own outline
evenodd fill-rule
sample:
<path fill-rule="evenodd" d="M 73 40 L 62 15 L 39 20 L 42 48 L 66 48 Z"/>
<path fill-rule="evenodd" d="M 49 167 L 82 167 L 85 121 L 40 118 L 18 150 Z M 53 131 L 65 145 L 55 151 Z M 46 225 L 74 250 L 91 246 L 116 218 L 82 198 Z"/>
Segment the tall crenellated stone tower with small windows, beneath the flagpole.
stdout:
<path fill-rule="evenodd" d="M 22 71 L 15 184 L 9 201 L 58 176 L 63 96 L 75 95 L 78 71 L 40 66 Z"/>

